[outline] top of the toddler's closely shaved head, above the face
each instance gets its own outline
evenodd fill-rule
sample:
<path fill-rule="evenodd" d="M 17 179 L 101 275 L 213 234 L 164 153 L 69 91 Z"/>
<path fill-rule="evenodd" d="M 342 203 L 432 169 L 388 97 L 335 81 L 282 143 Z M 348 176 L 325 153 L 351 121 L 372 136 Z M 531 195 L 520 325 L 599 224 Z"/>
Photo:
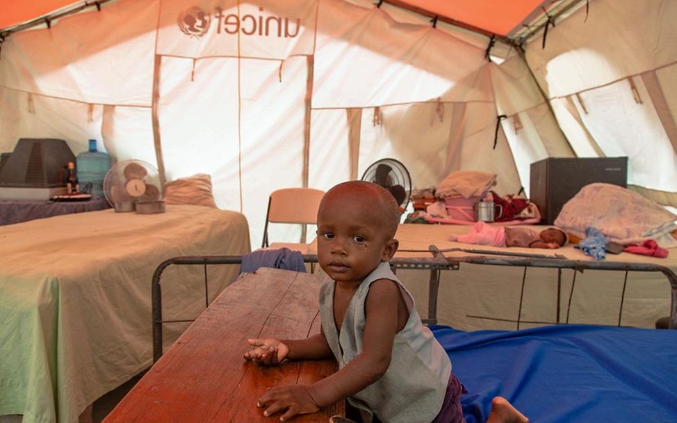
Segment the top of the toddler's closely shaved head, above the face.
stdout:
<path fill-rule="evenodd" d="M 343 182 L 329 189 L 325 194 L 318 216 L 324 207 L 351 207 L 364 210 L 365 214 L 375 214 L 388 239 L 395 237 L 400 223 L 400 209 L 390 191 L 372 182 Z"/>

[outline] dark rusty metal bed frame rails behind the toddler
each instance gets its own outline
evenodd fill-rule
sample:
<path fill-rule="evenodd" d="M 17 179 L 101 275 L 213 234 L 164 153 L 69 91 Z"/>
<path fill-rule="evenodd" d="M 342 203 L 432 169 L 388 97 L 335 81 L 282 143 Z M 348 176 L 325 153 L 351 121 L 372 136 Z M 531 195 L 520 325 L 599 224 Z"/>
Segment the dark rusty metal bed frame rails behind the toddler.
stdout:
<path fill-rule="evenodd" d="M 562 286 L 562 269 L 573 269 L 575 272 L 581 272 L 586 269 L 592 270 L 613 270 L 625 271 L 626 276 L 623 282 L 623 294 L 621 296 L 621 310 L 619 312 L 619 326 L 621 323 L 621 314 L 623 312 L 623 296 L 625 295 L 626 284 L 628 282 L 629 271 L 641 272 L 661 272 L 666 276 L 671 287 L 671 305 L 669 328 L 677 329 L 677 275 L 666 266 L 659 264 L 648 263 L 633 263 L 633 262 L 589 262 L 581 260 L 568 260 L 561 255 L 546 256 L 538 254 L 521 254 L 509 252 L 496 252 L 489 250 L 474 250 L 464 248 L 449 248 L 440 250 L 437 246 L 431 245 L 428 250 L 403 250 L 406 252 L 421 252 L 430 253 L 432 257 L 412 257 L 403 258 L 395 257 L 390 260 L 393 271 L 397 269 L 417 269 L 430 271 L 430 280 L 428 282 L 428 317 L 422 319 L 424 324 L 437 324 L 437 293 L 439 289 L 440 271 L 442 270 L 459 270 L 460 264 L 489 264 L 493 266 L 521 266 L 524 267 L 524 275 L 526 276 L 526 269 L 528 267 L 541 268 L 556 268 L 557 271 L 557 321 L 560 322 L 560 299 Z M 462 251 L 465 253 L 473 253 L 480 255 L 468 255 L 463 257 L 447 257 L 444 253 L 452 251 Z M 495 255 L 496 257 L 491 257 Z M 310 264 L 318 262 L 317 255 L 303 255 L 303 261 Z M 152 318 L 153 318 L 153 362 L 156 362 L 162 356 L 162 327 L 167 323 L 190 322 L 195 319 L 181 319 L 181 320 L 163 320 L 162 319 L 162 290 L 160 279 L 163 271 L 170 265 L 202 265 L 204 266 L 204 296 L 205 307 L 209 306 L 209 283 L 207 278 L 208 264 L 241 264 L 241 255 L 205 255 L 205 256 L 183 256 L 172 257 L 162 262 L 153 274 L 152 280 Z M 574 273 L 574 280 L 571 285 L 571 292 L 569 293 L 569 306 L 571 305 L 571 297 L 573 296 L 573 286 L 576 282 L 576 273 Z M 524 276 L 524 278 L 525 278 Z M 519 314 L 516 321 L 517 328 L 521 322 L 522 297 L 524 293 L 525 279 L 522 280 L 522 292 L 520 295 Z M 569 310 L 566 313 L 566 323 L 569 321 Z M 492 319 L 489 317 L 478 317 L 482 319 Z M 503 319 L 500 319 L 503 320 Z M 524 323 L 548 323 L 548 322 L 524 322 Z"/>

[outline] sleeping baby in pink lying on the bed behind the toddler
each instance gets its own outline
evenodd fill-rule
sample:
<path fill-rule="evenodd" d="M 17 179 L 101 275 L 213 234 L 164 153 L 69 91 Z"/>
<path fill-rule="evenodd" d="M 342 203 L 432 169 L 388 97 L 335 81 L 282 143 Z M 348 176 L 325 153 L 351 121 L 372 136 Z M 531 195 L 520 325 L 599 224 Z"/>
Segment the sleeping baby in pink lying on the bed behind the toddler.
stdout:
<path fill-rule="evenodd" d="M 548 228 L 536 232 L 529 228 L 492 226 L 478 222 L 473 225 L 473 228 L 467 234 L 450 235 L 449 239 L 466 244 L 492 247 L 560 248 L 569 241 L 569 236 L 558 228 Z"/>

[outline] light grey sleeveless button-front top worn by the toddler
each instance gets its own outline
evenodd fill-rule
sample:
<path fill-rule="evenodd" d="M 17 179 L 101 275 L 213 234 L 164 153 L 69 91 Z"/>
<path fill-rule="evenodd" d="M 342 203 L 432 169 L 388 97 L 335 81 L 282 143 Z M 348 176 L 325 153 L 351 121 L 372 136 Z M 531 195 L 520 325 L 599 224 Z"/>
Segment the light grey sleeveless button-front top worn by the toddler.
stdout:
<path fill-rule="evenodd" d="M 439 413 L 451 374 L 446 351 L 423 326 L 414 298 L 402 286 L 388 263 L 381 263 L 362 281 L 345 312 L 341 333 L 334 322 L 334 280 L 325 278 L 320 288 L 320 319 L 329 347 L 343 368 L 362 351 L 364 303 L 371 282 L 394 280 L 409 308 L 405 327 L 395 334 L 390 366 L 386 373 L 364 390 L 348 397 L 359 408 L 365 423 L 373 415 L 387 423 L 431 422 Z"/>

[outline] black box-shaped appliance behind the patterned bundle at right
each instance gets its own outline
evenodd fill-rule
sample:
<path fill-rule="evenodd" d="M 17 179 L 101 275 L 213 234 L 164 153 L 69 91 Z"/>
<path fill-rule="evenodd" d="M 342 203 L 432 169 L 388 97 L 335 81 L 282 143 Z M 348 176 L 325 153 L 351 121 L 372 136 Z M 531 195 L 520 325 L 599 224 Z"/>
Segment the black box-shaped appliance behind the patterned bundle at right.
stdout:
<path fill-rule="evenodd" d="M 531 163 L 530 200 L 552 225 L 564 203 L 583 186 L 604 182 L 628 186 L 628 157 L 550 157 Z"/>

